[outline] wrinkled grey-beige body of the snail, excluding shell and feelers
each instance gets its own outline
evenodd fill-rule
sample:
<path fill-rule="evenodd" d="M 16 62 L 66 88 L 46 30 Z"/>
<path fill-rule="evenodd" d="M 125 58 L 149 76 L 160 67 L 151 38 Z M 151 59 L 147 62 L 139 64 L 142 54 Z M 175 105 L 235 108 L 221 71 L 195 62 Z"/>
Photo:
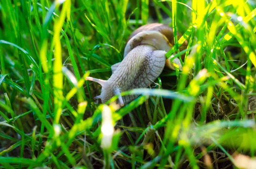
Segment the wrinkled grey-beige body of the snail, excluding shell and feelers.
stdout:
<path fill-rule="evenodd" d="M 155 50 L 153 46 L 139 45 L 132 49 L 102 86 L 97 98 L 102 103 L 120 92 L 148 87 L 161 74 L 165 65 L 165 51 Z M 123 96 L 123 103 L 134 100 L 136 95 Z"/>

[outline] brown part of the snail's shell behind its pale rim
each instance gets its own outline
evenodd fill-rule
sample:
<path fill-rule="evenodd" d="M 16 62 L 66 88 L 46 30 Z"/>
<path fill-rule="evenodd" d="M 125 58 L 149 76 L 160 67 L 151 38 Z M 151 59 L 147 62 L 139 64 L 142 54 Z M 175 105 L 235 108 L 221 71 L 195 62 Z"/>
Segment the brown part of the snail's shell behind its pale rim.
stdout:
<path fill-rule="evenodd" d="M 164 36 L 166 36 L 166 38 L 169 40 L 169 42 L 172 44 L 172 46 L 174 46 L 174 37 L 173 37 L 173 29 L 169 26 L 163 25 L 162 23 L 150 23 L 147 25 L 143 25 L 140 26 L 138 29 L 136 29 L 128 38 L 127 42 L 134 37 L 136 34 L 138 34 L 139 32 L 143 32 L 143 31 L 158 31 L 161 34 L 163 34 Z M 177 36 L 178 39 L 180 39 L 180 37 L 182 35 L 180 35 L 177 32 Z M 180 46 L 180 50 L 184 50 L 187 48 L 188 42 L 187 40 Z"/>

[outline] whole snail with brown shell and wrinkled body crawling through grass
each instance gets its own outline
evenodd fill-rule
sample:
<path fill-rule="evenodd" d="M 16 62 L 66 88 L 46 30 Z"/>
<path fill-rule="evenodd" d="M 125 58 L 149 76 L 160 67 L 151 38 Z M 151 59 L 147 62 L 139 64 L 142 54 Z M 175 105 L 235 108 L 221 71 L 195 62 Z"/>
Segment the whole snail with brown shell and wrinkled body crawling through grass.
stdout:
<path fill-rule="evenodd" d="M 134 100 L 138 95 L 121 97 L 120 93 L 150 86 L 165 66 L 175 70 L 174 64 L 165 56 L 172 44 L 173 30 L 169 26 L 151 23 L 136 29 L 128 38 L 122 62 L 111 66 L 112 75 L 108 80 L 86 78 L 102 86 L 101 95 L 94 99 L 100 98 L 102 103 L 106 103 L 114 95 L 119 95 L 121 105 Z M 182 69 L 178 58 L 172 62 Z"/>

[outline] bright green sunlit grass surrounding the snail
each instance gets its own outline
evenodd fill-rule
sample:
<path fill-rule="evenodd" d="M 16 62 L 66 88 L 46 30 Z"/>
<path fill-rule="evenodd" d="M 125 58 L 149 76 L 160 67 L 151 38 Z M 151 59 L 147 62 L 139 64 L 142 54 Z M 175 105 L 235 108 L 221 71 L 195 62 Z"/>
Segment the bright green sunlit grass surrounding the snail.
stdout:
<path fill-rule="evenodd" d="M 0 0 L 0 168 L 255 163 L 253 0 L 57 2 Z M 185 54 L 183 70 L 123 92 L 140 94 L 124 107 L 93 100 L 101 87 L 85 78 L 107 80 L 131 32 L 153 22 L 173 27 L 166 58 Z"/>

